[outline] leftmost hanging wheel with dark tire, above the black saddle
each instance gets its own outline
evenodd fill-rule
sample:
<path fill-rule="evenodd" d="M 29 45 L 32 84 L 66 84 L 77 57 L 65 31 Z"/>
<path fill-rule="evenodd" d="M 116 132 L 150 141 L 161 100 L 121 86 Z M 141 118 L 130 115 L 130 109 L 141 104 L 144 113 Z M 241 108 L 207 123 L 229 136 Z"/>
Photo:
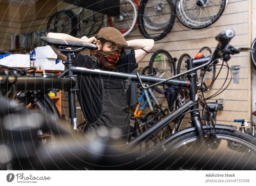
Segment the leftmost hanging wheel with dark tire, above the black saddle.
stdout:
<path fill-rule="evenodd" d="M 71 11 L 54 13 L 48 23 L 47 32 L 64 33 L 75 36 L 77 33 L 76 16 Z"/>

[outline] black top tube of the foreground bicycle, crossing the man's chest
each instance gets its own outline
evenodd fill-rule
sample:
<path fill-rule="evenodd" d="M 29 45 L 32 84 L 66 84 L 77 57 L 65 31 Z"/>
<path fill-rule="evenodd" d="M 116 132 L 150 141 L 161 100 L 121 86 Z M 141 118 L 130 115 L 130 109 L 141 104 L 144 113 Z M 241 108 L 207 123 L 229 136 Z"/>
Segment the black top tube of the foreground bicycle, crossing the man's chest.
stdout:
<path fill-rule="evenodd" d="M 103 71 L 99 69 L 88 69 L 84 67 L 71 67 L 70 71 L 73 74 L 78 75 L 87 75 L 87 76 L 98 76 L 101 78 L 108 78 L 108 79 L 115 79 L 120 81 L 126 81 L 127 79 L 131 81 L 138 82 L 139 79 L 136 74 L 128 74 L 128 73 L 119 73 L 119 72 L 110 72 L 110 71 Z M 190 88 L 191 83 L 189 81 L 183 81 L 183 80 L 170 80 L 166 81 L 165 78 L 159 78 L 155 76 L 146 76 L 146 75 L 140 75 L 140 79 L 144 83 L 157 83 L 160 81 L 164 81 L 161 85 L 167 85 L 167 86 L 179 86 L 184 88 Z"/>

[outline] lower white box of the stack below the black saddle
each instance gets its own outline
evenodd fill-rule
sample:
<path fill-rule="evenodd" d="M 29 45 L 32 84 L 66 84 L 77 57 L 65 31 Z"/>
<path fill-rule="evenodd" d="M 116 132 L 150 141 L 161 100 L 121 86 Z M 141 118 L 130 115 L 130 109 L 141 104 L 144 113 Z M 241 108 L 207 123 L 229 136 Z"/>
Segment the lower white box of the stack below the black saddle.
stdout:
<path fill-rule="evenodd" d="M 56 61 L 59 63 L 56 64 Z M 65 66 L 62 64 L 62 60 L 50 59 L 50 58 L 38 58 L 34 60 L 34 66 L 40 67 L 41 70 L 60 70 L 63 71 Z"/>

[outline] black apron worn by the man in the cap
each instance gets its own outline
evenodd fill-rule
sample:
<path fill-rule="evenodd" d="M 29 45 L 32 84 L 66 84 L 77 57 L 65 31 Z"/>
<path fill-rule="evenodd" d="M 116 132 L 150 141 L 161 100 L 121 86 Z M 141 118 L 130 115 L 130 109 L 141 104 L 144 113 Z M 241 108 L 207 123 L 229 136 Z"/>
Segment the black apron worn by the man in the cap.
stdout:
<path fill-rule="evenodd" d="M 106 126 L 109 130 L 117 127 L 122 131 L 120 138 L 128 142 L 131 135 L 130 112 L 124 82 L 122 81 L 123 89 L 105 89 L 103 79 L 100 78 L 100 81 L 102 86 L 102 99 L 99 97 L 100 117 L 95 122 L 86 125 L 85 134 L 97 131 L 100 126 Z"/>

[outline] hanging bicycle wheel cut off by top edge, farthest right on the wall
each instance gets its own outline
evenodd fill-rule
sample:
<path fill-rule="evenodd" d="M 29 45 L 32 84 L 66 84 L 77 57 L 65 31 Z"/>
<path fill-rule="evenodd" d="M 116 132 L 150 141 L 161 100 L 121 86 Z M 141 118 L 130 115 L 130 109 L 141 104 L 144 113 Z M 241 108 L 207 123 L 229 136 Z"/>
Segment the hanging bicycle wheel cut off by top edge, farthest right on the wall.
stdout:
<path fill-rule="evenodd" d="M 188 28 L 205 28 L 220 18 L 226 3 L 226 0 L 177 0 L 177 17 Z"/>

